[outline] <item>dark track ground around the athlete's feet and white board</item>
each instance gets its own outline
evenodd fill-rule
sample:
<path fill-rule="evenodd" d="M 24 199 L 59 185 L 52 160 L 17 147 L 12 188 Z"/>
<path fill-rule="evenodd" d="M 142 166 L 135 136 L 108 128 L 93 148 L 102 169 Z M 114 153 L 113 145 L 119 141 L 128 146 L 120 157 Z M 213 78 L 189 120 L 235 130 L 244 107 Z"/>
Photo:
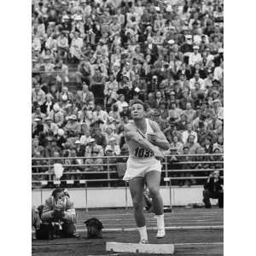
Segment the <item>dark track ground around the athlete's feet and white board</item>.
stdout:
<path fill-rule="evenodd" d="M 154 214 L 147 213 L 147 227 L 155 227 Z M 32 255 L 145 255 L 140 253 L 108 253 L 106 241 L 138 242 L 137 231 L 115 232 L 103 231 L 102 239 L 86 239 L 84 220 L 96 217 L 102 221 L 105 229 L 136 228 L 132 210 L 125 209 L 90 210 L 78 212 L 77 229 L 81 235 L 78 239 L 55 239 L 54 241 L 32 241 Z M 163 239 L 155 238 L 155 231 L 148 231 L 150 243 L 172 243 L 175 245 L 174 255 L 223 255 L 223 230 L 175 230 L 175 227 L 201 227 L 212 228 L 223 225 L 223 210 L 212 209 L 184 209 L 174 208 L 173 212 L 165 213 L 167 230 Z M 149 254 L 147 254 L 149 255 Z M 157 254 L 150 254 L 157 255 Z"/>

